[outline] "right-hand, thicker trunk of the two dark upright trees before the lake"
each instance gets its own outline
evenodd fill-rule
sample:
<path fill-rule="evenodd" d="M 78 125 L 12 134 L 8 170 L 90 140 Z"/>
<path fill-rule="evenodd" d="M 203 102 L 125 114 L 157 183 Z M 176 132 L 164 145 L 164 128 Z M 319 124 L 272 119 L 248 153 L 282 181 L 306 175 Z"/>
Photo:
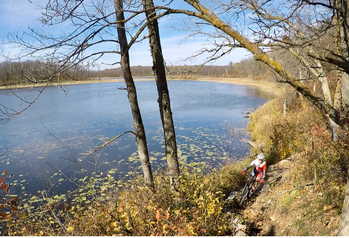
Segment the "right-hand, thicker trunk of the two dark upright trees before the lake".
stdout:
<path fill-rule="evenodd" d="M 148 22 L 150 52 L 151 56 L 153 57 L 153 72 L 159 95 L 158 103 L 162 126 L 164 128 L 165 150 L 170 176 L 170 186 L 172 193 L 176 193 L 180 183 L 180 171 L 177 157 L 176 134 L 174 132 L 172 120 L 170 96 L 167 87 L 165 65 L 161 50 L 159 27 L 157 20 L 151 20 L 156 16 L 153 0 L 142 0 L 142 4 L 146 12 Z"/>

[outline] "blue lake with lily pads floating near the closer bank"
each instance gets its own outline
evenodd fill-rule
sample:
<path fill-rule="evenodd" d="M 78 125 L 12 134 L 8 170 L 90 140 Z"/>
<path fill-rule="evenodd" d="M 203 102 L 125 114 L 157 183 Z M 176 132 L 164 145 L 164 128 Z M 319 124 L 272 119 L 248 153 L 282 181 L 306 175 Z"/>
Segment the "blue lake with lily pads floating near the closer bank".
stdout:
<path fill-rule="evenodd" d="M 135 85 L 155 171 L 166 167 L 156 84 L 136 81 Z M 82 155 L 107 139 L 134 130 L 127 91 L 118 87 L 125 83 L 70 85 L 68 94 L 49 86 L 22 114 L 0 125 L 1 172 L 15 175 L 12 190 L 27 195 L 51 186 L 55 192 L 74 188 L 62 173 L 74 179 L 83 175 L 69 160 L 83 161 L 81 166 L 89 174 L 94 166 L 87 160 L 97 160 L 97 172 L 116 179 L 127 177 L 129 171 L 140 172 L 132 134 L 94 156 Z M 181 163 L 205 162 L 209 168 L 218 168 L 249 152 L 250 147 L 241 141 L 249 138 L 243 112 L 267 101 L 256 88 L 206 81 L 168 81 L 168 87 Z M 29 100 L 37 91 L 18 89 L 18 93 Z M 6 94 L 8 89 L 0 90 L 1 104 L 20 109 L 18 98 Z"/>

